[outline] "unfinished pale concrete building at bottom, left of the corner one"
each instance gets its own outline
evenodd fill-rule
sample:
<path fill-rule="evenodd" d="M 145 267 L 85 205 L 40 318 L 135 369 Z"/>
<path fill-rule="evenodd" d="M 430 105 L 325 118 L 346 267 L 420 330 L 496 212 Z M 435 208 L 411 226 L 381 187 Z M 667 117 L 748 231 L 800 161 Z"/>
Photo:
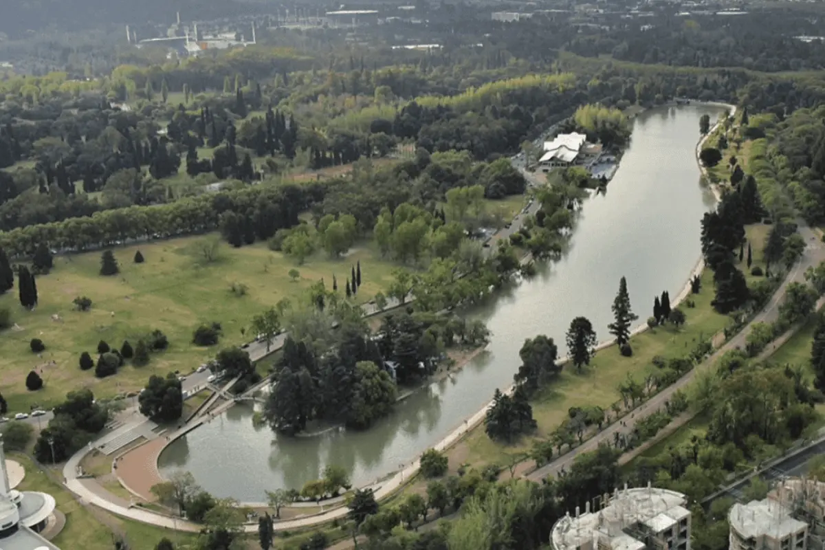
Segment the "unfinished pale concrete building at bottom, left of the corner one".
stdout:
<path fill-rule="evenodd" d="M 691 511 L 681 493 L 657 487 L 616 489 L 601 497 L 601 510 L 576 509 L 556 522 L 554 550 L 691 550 Z"/>

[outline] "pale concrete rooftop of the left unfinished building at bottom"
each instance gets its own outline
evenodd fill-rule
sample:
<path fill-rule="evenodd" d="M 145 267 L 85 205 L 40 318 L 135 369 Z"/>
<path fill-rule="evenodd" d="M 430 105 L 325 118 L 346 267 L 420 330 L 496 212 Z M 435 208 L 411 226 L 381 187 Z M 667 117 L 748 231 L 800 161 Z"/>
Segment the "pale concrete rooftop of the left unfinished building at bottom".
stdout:
<path fill-rule="evenodd" d="M 610 539 L 611 548 L 637 550 L 644 544 L 633 543 L 635 539 L 625 534 L 625 529 L 637 523 L 651 526 L 668 522 L 672 525 L 690 515 L 684 508 L 686 498 L 681 493 L 657 487 L 637 487 L 623 491 L 616 490 L 609 504 L 598 512 L 587 510 L 578 517 L 569 514 L 554 525 L 552 542 L 557 550 L 574 549 L 580 546 L 597 548 L 601 538 Z M 658 530 L 658 529 L 654 529 Z"/>

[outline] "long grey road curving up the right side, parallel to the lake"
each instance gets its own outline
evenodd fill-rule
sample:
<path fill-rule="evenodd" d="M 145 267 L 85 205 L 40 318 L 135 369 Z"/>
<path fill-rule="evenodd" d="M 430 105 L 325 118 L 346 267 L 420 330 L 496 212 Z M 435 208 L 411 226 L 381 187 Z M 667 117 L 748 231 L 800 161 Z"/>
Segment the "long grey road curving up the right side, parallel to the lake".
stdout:
<path fill-rule="evenodd" d="M 747 327 L 744 327 L 742 331 L 739 331 L 736 336 L 733 336 L 730 341 L 720 347 L 714 355 L 711 355 L 709 359 L 705 360 L 705 364 L 714 364 L 722 355 L 724 355 L 725 352 L 729 350 L 733 350 L 735 348 L 744 349 L 747 335 L 750 333 L 753 323 L 773 322 L 777 317 L 779 317 L 779 305 L 785 297 L 785 290 L 787 289 L 788 284 L 792 282 L 804 282 L 805 270 L 811 266 L 818 266 L 820 262 L 825 261 L 825 243 L 823 243 L 817 235 L 804 224 L 804 222 L 799 220 L 798 223 L 799 234 L 804 237 L 805 242 L 807 243 L 801 260 L 797 262 L 796 266 L 791 268 L 790 273 L 785 277 L 785 280 L 780 285 L 780 288 L 776 290 L 771 302 L 769 302 L 760 313 L 757 313 L 756 317 L 754 317 L 752 321 L 747 324 Z M 691 383 L 694 375 L 699 370 L 700 369 L 698 367 L 692 369 L 691 372 L 680 378 L 676 383 L 663 389 L 662 392 L 657 393 L 647 402 L 644 402 L 639 407 L 636 407 L 634 411 L 631 411 L 629 415 L 623 418 L 625 425 L 622 425 L 621 422 L 615 422 L 609 425 L 605 430 L 602 430 L 598 434 L 594 435 L 590 440 L 585 441 L 584 444 L 568 451 L 566 454 L 561 455 L 559 458 L 556 458 L 553 462 L 546 464 L 542 468 L 535 470 L 535 472 L 532 472 L 528 477 L 534 481 L 539 481 L 547 476 L 558 476 L 562 469 L 567 470 L 573 465 L 573 460 L 579 454 L 596 450 L 598 445 L 601 443 L 612 444 L 613 435 L 615 433 L 629 434 L 633 431 L 634 425 L 636 425 L 636 422 L 638 422 L 639 419 L 649 416 L 654 411 L 658 411 L 660 408 L 664 407 L 665 402 L 669 401 L 673 397 L 673 393 L 676 393 L 676 391 L 680 389 L 685 389 L 688 384 Z"/>

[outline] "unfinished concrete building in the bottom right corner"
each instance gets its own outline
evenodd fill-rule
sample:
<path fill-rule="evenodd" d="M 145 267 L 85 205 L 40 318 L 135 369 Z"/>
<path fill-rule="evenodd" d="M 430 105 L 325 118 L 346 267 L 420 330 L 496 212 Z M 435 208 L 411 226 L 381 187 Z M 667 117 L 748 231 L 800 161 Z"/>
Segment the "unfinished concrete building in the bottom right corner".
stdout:
<path fill-rule="evenodd" d="M 728 513 L 731 550 L 823 550 L 825 483 L 782 480 L 766 499 L 735 504 Z"/>

